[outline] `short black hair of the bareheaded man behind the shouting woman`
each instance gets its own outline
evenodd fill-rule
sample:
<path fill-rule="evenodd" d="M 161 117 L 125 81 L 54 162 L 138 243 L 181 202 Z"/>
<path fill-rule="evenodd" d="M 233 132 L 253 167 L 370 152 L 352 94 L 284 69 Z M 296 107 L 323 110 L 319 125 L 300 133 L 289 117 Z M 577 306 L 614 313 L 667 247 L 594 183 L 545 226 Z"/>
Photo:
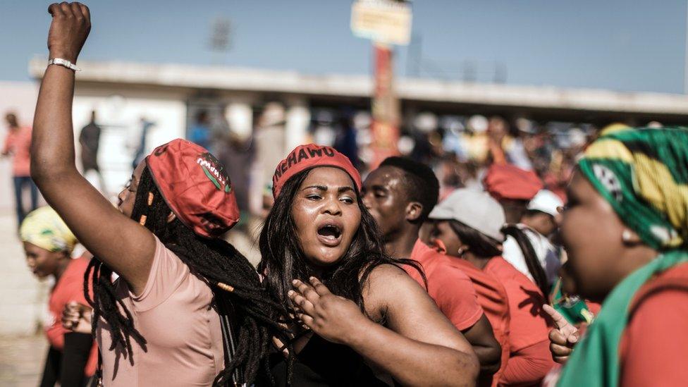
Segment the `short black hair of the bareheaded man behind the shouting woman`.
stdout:
<path fill-rule="evenodd" d="M 398 156 L 386 158 L 380 166 L 393 166 L 404 171 L 404 183 L 408 198 L 410 201 L 419 202 L 423 206 L 417 223 L 426 221 L 440 195 L 440 183 L 432 169 L 418 161 Z"/>

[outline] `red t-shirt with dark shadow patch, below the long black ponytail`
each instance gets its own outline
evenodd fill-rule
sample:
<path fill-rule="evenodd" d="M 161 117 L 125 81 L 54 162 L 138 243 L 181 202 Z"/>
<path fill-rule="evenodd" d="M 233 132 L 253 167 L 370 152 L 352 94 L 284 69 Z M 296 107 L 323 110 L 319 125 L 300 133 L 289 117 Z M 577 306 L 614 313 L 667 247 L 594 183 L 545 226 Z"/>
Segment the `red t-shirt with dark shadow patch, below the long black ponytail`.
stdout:
<path fill-rule="evenodd" d="M 548 342 L 549 331 L 552 327 L 550 319 L 542 309 L 545 297 L 533 281 L 502 257 L 490 259 L 484 270 L 498 278 L 508 295 L 509 347 L 511 357 L 519 357 L 521 363 L 518 370 L 505 370 L 505 374 L 509 374 L 509 382 L 518 383 L 520 380 L 530 382 L 534 379 L 542 379 L 551 368 L 550 366 L 554 365 L 548 345 L 541 345 L 543 342 Z M 526 348 L 527 352 L 519 354 L 520 350 Z M 533 367 L 523 367 L 524 362 L 529 362 L 524 355 L 532 358 Z M 547 364 L 543 365 L 543 362 Z M 534 371 L 538 375 L 533 375 Z"/>

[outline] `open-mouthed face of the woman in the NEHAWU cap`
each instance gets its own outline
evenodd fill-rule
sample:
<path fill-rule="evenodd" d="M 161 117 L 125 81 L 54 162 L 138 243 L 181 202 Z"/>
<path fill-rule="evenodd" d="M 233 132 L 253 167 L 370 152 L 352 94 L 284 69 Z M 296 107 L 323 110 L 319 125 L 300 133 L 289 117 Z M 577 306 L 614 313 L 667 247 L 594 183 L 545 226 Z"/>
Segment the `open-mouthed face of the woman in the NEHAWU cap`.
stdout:
<path fill-rule="evenodd" d="M 293 199 L 291 214 L 309 264 L 327 267 L 346 253 L 361 223 L 354 183 L 339 168 L 313 168 Z M 285 235 L 286 237 L 286 235 Z"/>

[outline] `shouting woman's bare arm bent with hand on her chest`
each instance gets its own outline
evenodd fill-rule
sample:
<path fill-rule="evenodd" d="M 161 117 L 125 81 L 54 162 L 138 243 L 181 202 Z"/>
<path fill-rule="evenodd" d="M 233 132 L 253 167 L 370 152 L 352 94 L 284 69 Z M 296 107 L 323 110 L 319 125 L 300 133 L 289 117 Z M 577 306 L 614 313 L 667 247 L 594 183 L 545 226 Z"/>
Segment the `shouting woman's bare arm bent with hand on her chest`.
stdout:
<path fill-rule="evenodd" d="M 291 297 L 302 321 L 319 336 L 343 343 L 405 386 L 473 386 L 479 363 L 471 345 L 402 269 L 379 266 L 364 295 L 366 309 L 382 309 L 387 327 L 325 285 L 297 283 Z"/>

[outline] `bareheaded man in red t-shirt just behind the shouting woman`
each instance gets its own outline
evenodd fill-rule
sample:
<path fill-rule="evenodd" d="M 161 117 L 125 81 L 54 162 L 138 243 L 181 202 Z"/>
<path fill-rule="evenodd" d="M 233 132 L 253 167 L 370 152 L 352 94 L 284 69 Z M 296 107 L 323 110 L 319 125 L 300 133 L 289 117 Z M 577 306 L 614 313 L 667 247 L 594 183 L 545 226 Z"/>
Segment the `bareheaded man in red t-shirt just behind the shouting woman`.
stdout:
<path fill-rule="evenodd" d="M 402 157 L 389 157 L 369 174 L 362 195 L 366 208 L 381 228 L 386 252 L 393 258 L 413 259 L 422 265 L 430 297 L 478 355 L 479 380 L 483 384 L 500 368 L 500 345 L 490 321 L 478 304 L 466 274 L 418 238 L 420 226 L 437 203 L 438 192 L 439 183 L 428 166 Z M 425 287 L 417 270 L 410 266 L 405 269 Z"/>

